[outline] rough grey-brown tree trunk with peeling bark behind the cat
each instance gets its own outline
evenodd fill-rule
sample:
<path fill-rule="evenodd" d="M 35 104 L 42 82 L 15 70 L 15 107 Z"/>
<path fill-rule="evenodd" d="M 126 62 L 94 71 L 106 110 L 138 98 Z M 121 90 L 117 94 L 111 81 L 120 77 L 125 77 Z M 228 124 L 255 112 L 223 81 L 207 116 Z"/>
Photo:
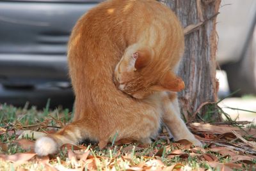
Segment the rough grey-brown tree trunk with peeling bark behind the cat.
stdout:
<path fill-rule="evenodd" d="M 217 100 L 215 27 L 221 0 L 159 1 L 175 11 L 186 34 L 185 53 L 179 67 L 186 85 L 179 93 L 181 112 L 186 121 L 209 116 L 220 120 L 217 112 L 212 112 L 216 108 L 206 104 Z M 207 113 L 210 107 L 211 113 Z"/>

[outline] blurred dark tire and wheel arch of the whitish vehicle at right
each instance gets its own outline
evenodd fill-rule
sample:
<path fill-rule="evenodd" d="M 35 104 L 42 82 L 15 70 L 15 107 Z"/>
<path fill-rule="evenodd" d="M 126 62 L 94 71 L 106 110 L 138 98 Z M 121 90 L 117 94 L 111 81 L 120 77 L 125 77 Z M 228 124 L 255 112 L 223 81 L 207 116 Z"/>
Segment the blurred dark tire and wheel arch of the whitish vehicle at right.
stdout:
<path fill-rule="evenodd" d="M 256 27 L 237 63 L 225 64 L 221 69 L 227 72 L 230 92 L 240 89 L 235 96 L 256 94 Z"/>

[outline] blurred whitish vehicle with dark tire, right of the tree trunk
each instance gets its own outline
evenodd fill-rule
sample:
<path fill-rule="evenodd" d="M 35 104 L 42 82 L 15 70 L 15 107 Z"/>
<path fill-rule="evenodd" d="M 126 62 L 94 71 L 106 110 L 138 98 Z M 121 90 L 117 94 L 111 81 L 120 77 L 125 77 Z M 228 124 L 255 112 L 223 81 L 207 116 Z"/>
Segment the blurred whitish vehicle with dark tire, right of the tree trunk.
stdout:
<path fill-rule="evenodd" d="M 217 61 L 230 92 L 256 94 L 256 1 L 222 0 L 217 20 Z"/>

